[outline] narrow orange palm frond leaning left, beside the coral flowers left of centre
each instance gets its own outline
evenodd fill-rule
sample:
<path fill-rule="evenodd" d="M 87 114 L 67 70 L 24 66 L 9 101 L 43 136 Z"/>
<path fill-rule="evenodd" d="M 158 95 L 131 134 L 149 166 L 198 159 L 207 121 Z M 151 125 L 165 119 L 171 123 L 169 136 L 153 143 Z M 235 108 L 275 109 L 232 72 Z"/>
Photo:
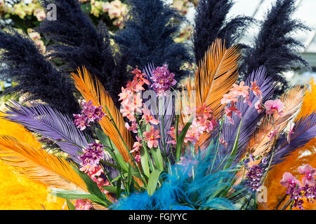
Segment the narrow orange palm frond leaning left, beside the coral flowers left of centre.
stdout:
<path fill-rule="evenodd" d="M 112 140 L 124 160 L 129 162 L 131 158 L 129 157 L 126 146 L 129 148 L 129 151 L 131 151 L 133 147 L 133 139 L 131 137 L 131 133 L 125 127 L 123 116 L 121 116 L 121 113 L 114 105 L 110 94 L 105 90 L 98 78 L 95 77 L 93 80 L 93 77 L 90 73 L 88 73 L 86 68 L 83 68 L 83 74 L 80 69 L 77 69 L 77 71 L 78 76 L 75 73 L 72 73 L 72 79 L 74 80 L 77 90 L 81 92 L 86 102 L 92 100 L 94 106 L 102 106 L 103 113 L 108 115 L 107 109 L 110 111 L 113 121 L 110 120 L 109 116 L 104 116 L 99 123 L 103 132 L 105 132 L 105 134 L 107 134 L 107 136 Z M 105 106 L 107 106 L 107 109 Z M 113 122 L 117 125 L 124 141 L 122 141 L 119 136 Z M 124 142 L 126 146 L 124 145 Z"/>

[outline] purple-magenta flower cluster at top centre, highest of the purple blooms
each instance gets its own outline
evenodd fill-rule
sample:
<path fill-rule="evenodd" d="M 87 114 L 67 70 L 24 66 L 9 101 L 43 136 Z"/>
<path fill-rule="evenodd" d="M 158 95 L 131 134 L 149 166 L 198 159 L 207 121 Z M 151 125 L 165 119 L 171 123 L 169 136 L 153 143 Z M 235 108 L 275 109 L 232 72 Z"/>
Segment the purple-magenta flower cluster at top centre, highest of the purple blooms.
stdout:
<path fill-rule="evenodd" d="M 164 64 L 162 67 L 157 67 L 152 71 L 153 76 L 150 78 L 153 80 L 151 87 L 157 92 L 157 96 L 164 95 L 166 96 L 166 91 L 170 90 L 170 87 L 176 85 L 177 81 L 173 79 L 174 73 L 171 73 L 167 65 Z"/>

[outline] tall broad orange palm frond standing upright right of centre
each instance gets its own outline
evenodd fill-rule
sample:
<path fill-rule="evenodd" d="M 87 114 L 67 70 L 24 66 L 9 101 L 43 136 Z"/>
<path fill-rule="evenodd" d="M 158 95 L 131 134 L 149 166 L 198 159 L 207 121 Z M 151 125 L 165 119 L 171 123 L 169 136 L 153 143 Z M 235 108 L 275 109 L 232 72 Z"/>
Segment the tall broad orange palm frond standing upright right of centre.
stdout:
<path fill-rule="evenodd" d="M 238 63 L 241 52 L 237 46 L 225 48 L 225 42 L 216 39 L 205 52 L 204 59 L 199 63 L 193 83 L 189 78 L 187 94 L 189 97 L 183 101 L 183 107 L 202 106 L 206 103 L 213 111 L 214 118 L 218 119 L 220 111 L 225 105 L 220 103 L 224 94 L 227 94 L 236 83 L 238 76 Z M 195 96 L 193 96 L 193 91 Z M 195 100 L 192 98 L 195 97 Z M 185 117 L 185 116 L 183 116 Z M 187 119 L 187 117 L 185 117 Z M 183 123 L 184 118 L 181 118 Z M 204 133 L 199 138 L 197 146 L 202 146 L 211 134 Z M 202 147 L 203 148 L 203 147 Z"/>

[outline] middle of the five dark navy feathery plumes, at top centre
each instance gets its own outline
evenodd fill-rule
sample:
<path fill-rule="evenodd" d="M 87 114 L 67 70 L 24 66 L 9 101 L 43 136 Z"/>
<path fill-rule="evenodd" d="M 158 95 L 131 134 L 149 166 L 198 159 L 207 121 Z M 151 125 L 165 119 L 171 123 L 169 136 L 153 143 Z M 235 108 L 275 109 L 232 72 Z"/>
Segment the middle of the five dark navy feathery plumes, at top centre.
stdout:
<path fill-rule="evenodd" d="M 183 62 L 191 58 L 184 43 L 175 43 L 172 34 L 180 29 L 184 18 L 162 0 L 129 0 L 131 19 L 126 28 L 114 36 L 130 66 L 144 69 L 148 63 L 166 63 L 176 79 L 185 74 Z"/>

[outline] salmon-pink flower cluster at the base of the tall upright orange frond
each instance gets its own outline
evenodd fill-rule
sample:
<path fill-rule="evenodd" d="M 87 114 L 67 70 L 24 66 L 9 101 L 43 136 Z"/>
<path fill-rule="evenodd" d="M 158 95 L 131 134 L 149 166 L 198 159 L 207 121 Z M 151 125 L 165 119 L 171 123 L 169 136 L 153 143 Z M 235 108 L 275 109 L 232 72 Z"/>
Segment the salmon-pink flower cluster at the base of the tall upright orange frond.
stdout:
<path fill-rule="evenodd" d="M 195 113 L 195 118 L 192 121 L 192 125 L 189 130 L 187 130 L 187 134 L 185 135 L 185 144 L 188 142 L 196 143 L 199 141 L 199 137 L 204 132 L 211 132 L 214 127 L 216 127 L 216 120 L 213 119 L 212 111 L 209 106 L 206 106 L 204 103 L 202 106 L 198 106 L 197 109 L 188 108 L 187 111 L 190 111 L 188 115 Z M 180 125 L 178 128 L 178 134 L 180 134 L 181 130 L 183 130 L 183 125 Z M 167 144 L 176 145 L 176 129 L 171 127 L 171 130 L 168 134 L 173 138 L 171 141 L 167 141 Z"/>

